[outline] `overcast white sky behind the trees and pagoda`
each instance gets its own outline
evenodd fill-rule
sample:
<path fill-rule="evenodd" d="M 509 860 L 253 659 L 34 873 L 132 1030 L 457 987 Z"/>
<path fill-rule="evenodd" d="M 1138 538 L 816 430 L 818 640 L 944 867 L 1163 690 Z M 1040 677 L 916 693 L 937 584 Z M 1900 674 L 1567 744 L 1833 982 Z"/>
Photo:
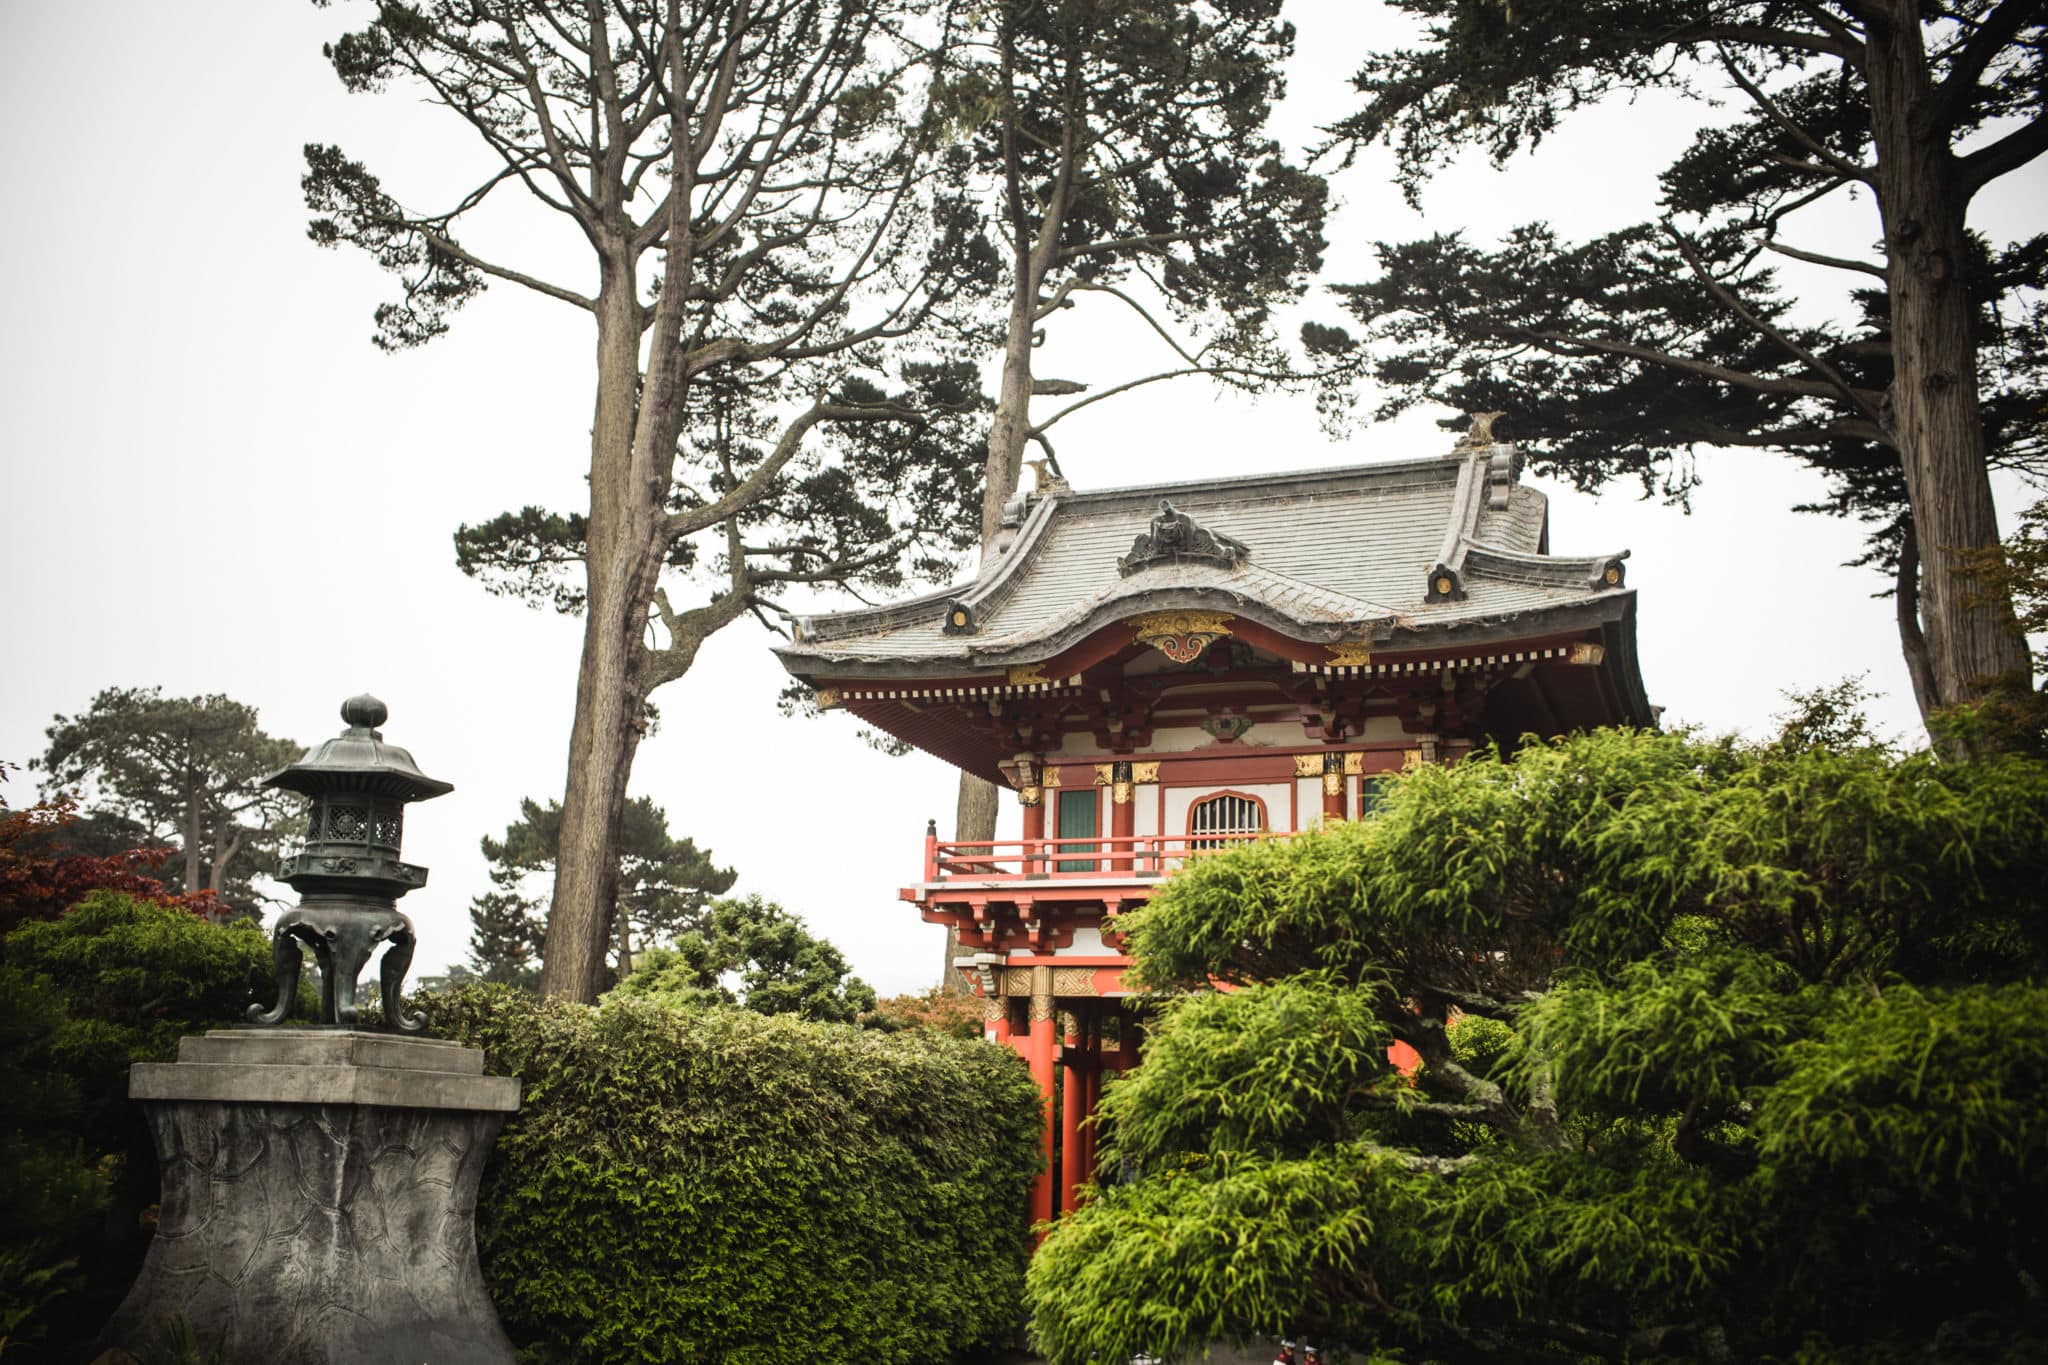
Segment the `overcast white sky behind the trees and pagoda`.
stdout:
<path fill-rule="evenodd" d="M 408 821 L 408 857 L 432 882 L 403 909 L 422 933 L 414 970 L 432 972 L 465 952 L 467 902 L 485 888 L 477 837 L 520 796 L 561 792 L 580 641 L 578 622 L 457 573 L 449 536 L 506 508 L 580 505 L 590 334 L 586 315 L 498 287 L 424 350 L 369 344 L 389 280 L 305 239 L 301 143 L 340 143 L 408 203 L 444 199 L 444 168 L 475 151 L 408 94 L 340 90 L 319 45 L 360 12 L 0 6 L 0 759 L 39 755 L 51 716 L 106 686 L 225 692 L 301 743 L 371 690 L 391 706 L 385 735 L 457 788 Z M 1350 106 L 1348 74 L 1397 31 L 1356 0 L 1290 16 L 1303 55 L 1280 131 L 1298 145 Z M 1384 160 L 1360 162 L 1337 180 L 1327 278 L 1362 278 L 1374 239 L 1638 221 L 1702 117 L 1720 115 L 1665 98 L 1581 115 L 1507 172 L 1475 160 L 1444 174 L 1421 215 Z M 2040 166 L 2011 178 L 1976 225 L 2036 231 L 2044 186 Z M 1833 231 L 1829 250 L 1853 254 L 1876 237 L 1874 211 L 1845 205 Z M 1110 383 L 1141 346 L 1110 319 L 1067 323 L 1040 370 Z M 1307 403 L 1192 387 L 1098 405 L 1061 432 L 1079 487 L 1415 458 L 1448 440 L 1413 415 L 1333 444 Z M 1634 553 L 1651 700 L 1667 720 L 1757 733 L 1784 690 L 1864 673 L 1880 722 L 1913 735 L 1890 602 L 1839 567 L 1858 528 L 1786 512 L 1821 481 L 1755 452 L 1702 452 L 1700 467 L 1692 516 L 1630 489 L 1550 489 L 1559 553 Z M 2001 497 L 2009 520 L 2021 499 Z M 926 988 L 940 931 L 895 888 L 918 874 L 926 817 L 950 825 L 954 774 L 872 753 L 846 716 L 778 716 L 768 643 L 733 626 L 657 694 L 664 726 L 633 790 L 879 990 Z M 33 782 L 6 796 L 33 800 Z"/>

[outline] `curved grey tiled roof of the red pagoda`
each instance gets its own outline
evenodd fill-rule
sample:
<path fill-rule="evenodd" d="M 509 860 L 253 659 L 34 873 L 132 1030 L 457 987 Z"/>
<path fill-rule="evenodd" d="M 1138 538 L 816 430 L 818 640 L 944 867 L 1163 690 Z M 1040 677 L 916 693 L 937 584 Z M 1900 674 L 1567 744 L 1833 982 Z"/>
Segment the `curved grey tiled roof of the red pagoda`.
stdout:
<path fill-rule="evenodd" d="M 1520 483 L 1520 465 L 1513 446 L 1481 446 L 1427 460 L 1024 495 L 973 581 L 801 618 L 797 641 L 778 653 L 805 677 L 1016 667 L 1116 620 L 1174 608 L 1237 612 L 1303 641 L 1423 645 L 1628 596 L 1626 553 L 1544 553 L 1548 505 Z M 1190 555 L 1122 573 L 1118 559 L 1151 530 L 1161 499 L 1249 555 Z M 967 628 L 948 628 L 956 612 Z"/>

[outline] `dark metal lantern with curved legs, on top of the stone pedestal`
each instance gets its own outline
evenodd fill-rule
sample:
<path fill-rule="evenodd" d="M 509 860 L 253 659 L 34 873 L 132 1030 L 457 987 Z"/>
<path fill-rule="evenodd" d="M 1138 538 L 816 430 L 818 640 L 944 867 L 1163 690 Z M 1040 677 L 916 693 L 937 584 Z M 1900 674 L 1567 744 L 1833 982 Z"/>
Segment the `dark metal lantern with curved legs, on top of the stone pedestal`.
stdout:
<path fill-rule="evenodd" d="M 377 945 L 389 943 L 377 972 L 385 1027 L 420 1031 L 420 1019 L 399 1011 L 416 935 L 397 898 L 426 886 L 426 868 L 399 860 L 399 843 L 406 806 L 455 788 L 428 778 L 410 753 L 385 743 L 377 726 L 387 714 L 369 694 L 348 698 L 342 702 L 346 731 L 264 778 L 264 786 L 311 796 L 313 808 L 305 847 L 283 876 L 299 892 L 299 909 L 287 911 L 272 929 L 276 1003 L 270 1009 L 250 1005 L 252 1023 L 283 1023 L 291 1013 L 305 962 L 299 945 L 305 943 L 319 964 L 319 1023 L 354 1027 L 356 978 Z"/>

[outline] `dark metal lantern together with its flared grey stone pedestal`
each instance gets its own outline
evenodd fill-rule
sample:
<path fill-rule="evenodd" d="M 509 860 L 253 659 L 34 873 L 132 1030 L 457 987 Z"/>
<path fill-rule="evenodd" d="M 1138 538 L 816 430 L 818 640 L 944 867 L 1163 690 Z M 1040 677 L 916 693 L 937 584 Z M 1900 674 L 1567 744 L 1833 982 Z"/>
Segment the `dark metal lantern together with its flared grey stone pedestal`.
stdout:
<path fill-rule="evenodd" d="M 477 1267 L 477 1183 L 518 1109 L 518 1081 L 483 1052 L 399 1017 L 412 921 L 426 884 L 399 857 L 406 806 L 453 790 L 387 745 L 373 696 L 348 729 L 266 780 L 313 798 L 285 880 L 301 894 L 274 929 L 283 1023 L 303 948 L 319 964 L 315 1027 L 231 1027 L 178 1040 L 176 1062 L 137 1062 L 164 1173 L 156 1240 L 100 1334 L 113 1359 L 158 1359 L 182 1316 L 201 1351 L 264 1365 L 514 1365 Z M 356 976 L 383 943 L 383 1033 L 356 1031 Z M 125 1357 L 121 1355 L 125 1353 Z"/>

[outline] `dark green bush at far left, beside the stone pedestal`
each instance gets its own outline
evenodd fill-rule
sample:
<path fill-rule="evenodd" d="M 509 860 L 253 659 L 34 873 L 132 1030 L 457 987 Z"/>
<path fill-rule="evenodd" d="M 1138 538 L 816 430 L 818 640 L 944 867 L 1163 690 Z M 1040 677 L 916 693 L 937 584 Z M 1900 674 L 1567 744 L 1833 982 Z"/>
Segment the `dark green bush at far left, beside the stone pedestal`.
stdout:
<path fill-rule="evenodd" d="M 250 921 L 94 892 L 6 935 L 0 966 L 0 1322 L 6 1359 L 74 1361 L 133 1281 L 156 1158 L 133 1062 L 223 1027 L 270 976 Z M 47 1355 L 37 1355 L 45 1351 Z"/>

